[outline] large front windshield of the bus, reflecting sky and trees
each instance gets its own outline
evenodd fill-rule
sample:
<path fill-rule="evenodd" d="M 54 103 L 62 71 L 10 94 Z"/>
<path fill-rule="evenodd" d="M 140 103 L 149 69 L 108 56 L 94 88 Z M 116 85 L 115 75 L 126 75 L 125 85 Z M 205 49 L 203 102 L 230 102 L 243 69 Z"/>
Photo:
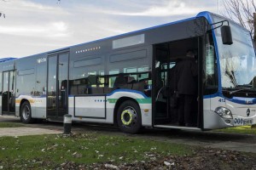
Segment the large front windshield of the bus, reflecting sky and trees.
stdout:
<path fill-rule="evenodd" d="M 213 15 L 213 21 L 224 20 Z M 233 44 L 222 43 L 220 29 L 215 29 L 222 88 L 256 89 L 256 59 L 249 31 L 230 21 Z M 253 81 L 254 79 L 254 81 Z"/>

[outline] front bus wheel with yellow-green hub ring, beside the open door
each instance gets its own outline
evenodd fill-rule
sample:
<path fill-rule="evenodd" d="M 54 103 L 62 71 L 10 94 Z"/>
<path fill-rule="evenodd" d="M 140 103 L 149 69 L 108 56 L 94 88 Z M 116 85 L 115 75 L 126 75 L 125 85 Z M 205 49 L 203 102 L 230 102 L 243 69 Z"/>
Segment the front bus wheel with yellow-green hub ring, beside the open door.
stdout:
<path fill-rule="evenodd" d="M 127 100 L 119 106 L 117 113 L 119 129 L 124 133 L 137 133 L 142 127 L 141 110 L 136 102 Z"/>

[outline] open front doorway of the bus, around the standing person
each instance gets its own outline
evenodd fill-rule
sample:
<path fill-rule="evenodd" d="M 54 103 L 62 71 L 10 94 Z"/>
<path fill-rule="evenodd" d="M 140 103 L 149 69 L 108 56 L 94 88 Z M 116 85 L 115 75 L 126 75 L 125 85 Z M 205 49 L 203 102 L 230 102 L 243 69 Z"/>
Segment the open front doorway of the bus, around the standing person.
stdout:
<path fill-rule="evenodd" d="M 196 62 L 202 59 L 201 37 L 192 37 L 175 42 L 165 42 L 154 45 L 154 70 L 153 70 L 153 125 L 154 127 L 164 128 L 181 128 L 181 129 L 196 129 L 202 127 L 202 84 L 198 81 L 201 78 L 201 63 L 198 64 L 197 76 L 197 95 L 193 99 L 193 107 L 191 107 L 191 119 L 193 126 L 186 127 L 178 123 L 178 107 L 172 105 L 172 96 L 177 80 L 175 78 L 175 66 L 179 60 L 184 59 L 188 50 L 195 51 Z"/>

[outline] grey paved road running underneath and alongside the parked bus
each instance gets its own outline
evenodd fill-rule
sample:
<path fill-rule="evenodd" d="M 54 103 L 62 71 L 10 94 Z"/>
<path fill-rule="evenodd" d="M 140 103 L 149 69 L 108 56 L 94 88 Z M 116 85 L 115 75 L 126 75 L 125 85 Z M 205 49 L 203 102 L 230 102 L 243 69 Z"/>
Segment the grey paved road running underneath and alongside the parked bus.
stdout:
<path fill-rule="evenodd" d="M 0 122 L 18 123 L 20 122 L 20 118 L 0 116 Z M 39 132 L 38 129 L 49 129 L 56 132 L 63 131 L 63 124 L 61 122 L 40 122 L 27 124 L 27 126 L 34 127 L 37 132 Z M 19 131 L 19 127 L 17 127 L 17 131 Z M 124 135 L 148 140 L 164 140 L 171 143 L 200 145 L 203 147 L 256 153 L 256 135 L 251 134 L 163 130 L 151 128 L 144 128 L 141 133 L 138 134 L 125 134 L 121 133 L 118 128 L 110 125 L 95 125 L 84 122 L 73 123 L 73 133 L 86 133 L 89 131 L 107 133 L 109 135 Z"/>

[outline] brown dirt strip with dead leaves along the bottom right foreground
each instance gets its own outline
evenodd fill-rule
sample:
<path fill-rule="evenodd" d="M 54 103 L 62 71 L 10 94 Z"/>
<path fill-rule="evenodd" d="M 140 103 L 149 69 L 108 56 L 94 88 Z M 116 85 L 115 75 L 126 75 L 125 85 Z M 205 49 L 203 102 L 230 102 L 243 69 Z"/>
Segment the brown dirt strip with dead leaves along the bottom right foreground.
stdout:
<path fill-rule="evenodd" d="M 63 162 L 56 169 L 252 169 L 256 170 L 256 155 L 238 151 L 197 149 L 192 156 L 152 155 L 150 161 L 133 161 L 115 165 L 112 162 L 81 165 L 71 161 Z"/>

